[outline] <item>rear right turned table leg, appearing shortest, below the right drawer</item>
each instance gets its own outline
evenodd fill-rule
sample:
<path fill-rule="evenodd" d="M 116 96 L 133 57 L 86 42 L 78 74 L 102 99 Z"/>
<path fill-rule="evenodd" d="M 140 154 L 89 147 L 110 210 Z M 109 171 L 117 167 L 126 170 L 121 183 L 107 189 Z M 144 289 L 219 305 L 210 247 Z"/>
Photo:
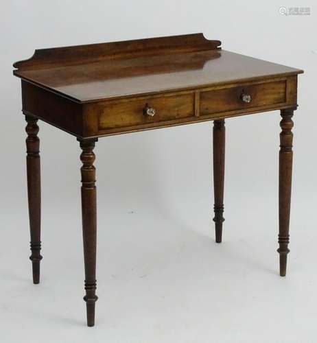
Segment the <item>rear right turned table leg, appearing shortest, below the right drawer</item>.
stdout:
<path fill-rule="evenodd" d="M 222 241 L 222 223 L 224 222 L 224 119 L 213 121 L 213 191 L 215 196 L 215 241 Z"/>

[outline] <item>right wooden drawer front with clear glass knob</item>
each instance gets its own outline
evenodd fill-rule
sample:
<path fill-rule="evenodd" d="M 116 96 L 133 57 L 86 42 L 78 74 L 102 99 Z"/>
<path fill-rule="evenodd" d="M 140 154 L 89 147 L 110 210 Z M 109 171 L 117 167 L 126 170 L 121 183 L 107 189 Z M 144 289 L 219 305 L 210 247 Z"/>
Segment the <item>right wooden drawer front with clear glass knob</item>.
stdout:
<path fill-rule="evenodd" d="M 200 93 L 200 115 L 270 106 L 286 102 L 286 80 L 246 84 Z"/>

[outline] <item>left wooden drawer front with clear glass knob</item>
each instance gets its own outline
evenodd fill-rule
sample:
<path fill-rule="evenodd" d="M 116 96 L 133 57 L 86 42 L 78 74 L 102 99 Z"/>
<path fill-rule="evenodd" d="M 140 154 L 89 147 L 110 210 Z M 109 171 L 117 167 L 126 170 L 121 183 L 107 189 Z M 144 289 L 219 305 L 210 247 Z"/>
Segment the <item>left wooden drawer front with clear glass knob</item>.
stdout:
<path fill-rule="evenodd" d="M 146 108 L 154 108 L 146 112 Z M 140 97 L 134 99 L 111 100 L 102 104 L 99 112 L 99 130 L 128 128 L 164 121 L 193 117 L 194 95 L 161 95 L 160 97 Z"/>

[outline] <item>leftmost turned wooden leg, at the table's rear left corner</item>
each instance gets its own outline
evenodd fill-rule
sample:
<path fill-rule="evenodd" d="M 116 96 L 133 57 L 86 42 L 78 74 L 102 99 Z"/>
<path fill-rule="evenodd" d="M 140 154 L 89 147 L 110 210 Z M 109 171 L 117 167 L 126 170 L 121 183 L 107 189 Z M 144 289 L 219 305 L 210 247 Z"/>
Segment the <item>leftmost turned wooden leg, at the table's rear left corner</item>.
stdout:
<path fill-rule="evenodd" d="M 35 117 L 25 115 L 27 126 L 27 198 L 29 202 L 33 283 L 40 282 L 40 139 Z"/>

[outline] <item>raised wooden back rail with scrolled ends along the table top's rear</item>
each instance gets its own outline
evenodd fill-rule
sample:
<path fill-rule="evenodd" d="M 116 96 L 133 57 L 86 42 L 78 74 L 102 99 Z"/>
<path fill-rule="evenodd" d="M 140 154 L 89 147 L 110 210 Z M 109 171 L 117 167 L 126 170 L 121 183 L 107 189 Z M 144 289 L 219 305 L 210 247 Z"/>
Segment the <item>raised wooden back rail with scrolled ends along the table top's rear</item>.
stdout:
<path fill-rule="evenodd" d="M 116 58 L 136 58 L 139 56 L 213 50 L 218 49 L 220 45 L 219 40 L 207 40 L 202 33 L 199 33 L 37 49 L 32 58 L 15 62 L 13 67 L 20 70 L 47 69 Z"/>

